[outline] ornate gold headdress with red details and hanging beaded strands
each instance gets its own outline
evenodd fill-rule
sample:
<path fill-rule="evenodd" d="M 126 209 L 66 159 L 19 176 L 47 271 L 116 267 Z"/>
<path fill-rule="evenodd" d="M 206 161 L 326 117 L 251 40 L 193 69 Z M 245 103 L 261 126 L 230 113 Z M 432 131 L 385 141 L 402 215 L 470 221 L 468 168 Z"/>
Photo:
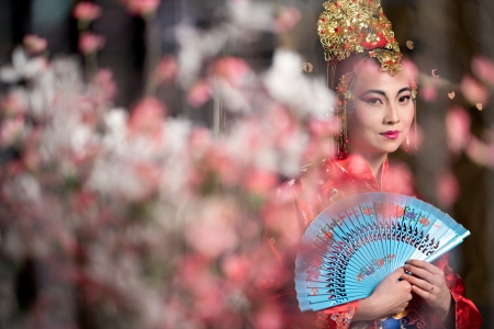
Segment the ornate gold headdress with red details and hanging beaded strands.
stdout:
<path fill-rule="evenodd" d="M 329 0 L 324 2 L 323 7 L 324 11 L 317 21 L 317 33 L 324 48 L 325 59 L 328 63 L 328 87 L 334 88 L 334 81 L 329 83 L 329 69 L 333 73 L 332 80 L 334 80 L 337 63 L 348 58 L 351 54 L 366 54 L 377 58 L 381 64 L 381 69 L 392 76 L 403 69 L 402 53 L 394 38 L 391 22 L 382 11 L 380 0 Z M 348 141 L 347 112 L 352 110 L 351 84 L 360 64 L 351 72 L 344 75 L 336 87 L 335 114 L 338 116 L 337 122 L 341 124 L 336 136 L 338 157 L 343 155 Z M 416 84 L 412 81 L 414 104 L 416 95 Z M 416 134 L 416 115 L 414 125 Z"/>

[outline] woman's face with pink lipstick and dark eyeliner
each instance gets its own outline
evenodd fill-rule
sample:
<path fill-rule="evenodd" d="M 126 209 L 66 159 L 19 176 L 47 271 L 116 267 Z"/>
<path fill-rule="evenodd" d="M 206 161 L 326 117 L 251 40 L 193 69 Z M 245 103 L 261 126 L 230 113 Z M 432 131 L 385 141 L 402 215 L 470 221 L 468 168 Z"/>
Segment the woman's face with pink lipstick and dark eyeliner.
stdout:
<path fill-rule="evenodd" d="M 375 60 L 364 60 L 352 86 L 355 110 L 348 113 L 348 147 L 363 155 L 395 151 L 414 120 L 411 80 L 405 70 L 382 71 Z"/>

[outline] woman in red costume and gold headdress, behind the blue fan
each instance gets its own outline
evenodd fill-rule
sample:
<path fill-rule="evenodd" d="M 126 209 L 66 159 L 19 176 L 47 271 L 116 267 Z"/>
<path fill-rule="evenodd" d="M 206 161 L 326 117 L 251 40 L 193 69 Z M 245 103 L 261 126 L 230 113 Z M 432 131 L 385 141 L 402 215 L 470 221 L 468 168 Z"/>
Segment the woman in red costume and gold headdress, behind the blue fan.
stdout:
<path fill-rule="evenodd" d="M 389 168 L 388 154 L 408 135 L 416 87 L 402 69 L 401 54 L 379 1 L 328 1 L 318 33 L 333 64 L 341 121 L 337 156 L 306 166 L 279 193 L 270 243 L 293 273 L 293 254 L 311 222 L 336 200 L 364 192 L 413 194 L 406 174 Z M 409 260 L 368 298 L 300 314 L 293 288 L 278 291 L 287 328 L 480 328 L 482 318 L 464 297 L 461 279 L 444 256 L 435 263 Z"/>

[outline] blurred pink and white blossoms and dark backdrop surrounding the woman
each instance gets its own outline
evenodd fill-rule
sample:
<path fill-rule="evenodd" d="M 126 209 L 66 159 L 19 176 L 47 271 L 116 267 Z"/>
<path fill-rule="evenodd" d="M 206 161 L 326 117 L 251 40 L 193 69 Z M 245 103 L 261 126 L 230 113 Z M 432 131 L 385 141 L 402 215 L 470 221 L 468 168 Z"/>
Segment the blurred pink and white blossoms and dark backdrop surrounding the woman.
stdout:
<path fill-rule="evenodd" d="M 279 183 L 332 149 L 315 0 L 0 1 L 0 328 L 276 328 Z M 494 4 L 382 0 L 425 200 L 494 298 Z"/>

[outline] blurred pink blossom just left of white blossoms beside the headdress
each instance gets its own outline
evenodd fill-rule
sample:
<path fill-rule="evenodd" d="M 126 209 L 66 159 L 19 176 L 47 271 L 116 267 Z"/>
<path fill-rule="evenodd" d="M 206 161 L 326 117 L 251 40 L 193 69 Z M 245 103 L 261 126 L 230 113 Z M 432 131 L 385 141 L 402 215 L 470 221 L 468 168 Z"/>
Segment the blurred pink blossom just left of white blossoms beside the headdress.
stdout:
<path fill-rule="evenodd" d="M 247 61 L 237 57 L 220 58 L 210 68 L 210 75 L 225 79 L 233 87 L 239 87 L 249 71 Z"/>

